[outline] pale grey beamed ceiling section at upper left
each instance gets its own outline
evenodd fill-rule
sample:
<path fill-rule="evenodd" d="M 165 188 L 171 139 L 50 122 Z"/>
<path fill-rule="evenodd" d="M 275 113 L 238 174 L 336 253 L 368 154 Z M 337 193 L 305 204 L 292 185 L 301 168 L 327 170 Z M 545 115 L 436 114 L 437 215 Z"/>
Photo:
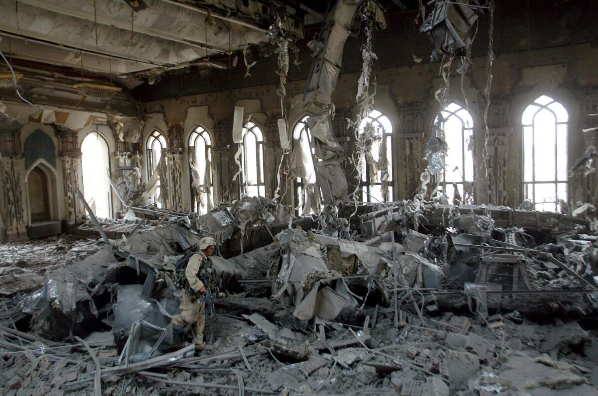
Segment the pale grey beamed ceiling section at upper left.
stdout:
<path fill-rule="evenodd" d="M 21 41 L 33 39 L 37 46 L 64 48 L 50 48 L 46 57 L 45 51 L 11 45 L 15 57 L 116 74 L 175 67 L 267 39 L 262 29 L 247 24 L 170 2 L 146 3 L 148 8 L 134 13 L 115 0 L 2 0 L 0 31 Z"/>

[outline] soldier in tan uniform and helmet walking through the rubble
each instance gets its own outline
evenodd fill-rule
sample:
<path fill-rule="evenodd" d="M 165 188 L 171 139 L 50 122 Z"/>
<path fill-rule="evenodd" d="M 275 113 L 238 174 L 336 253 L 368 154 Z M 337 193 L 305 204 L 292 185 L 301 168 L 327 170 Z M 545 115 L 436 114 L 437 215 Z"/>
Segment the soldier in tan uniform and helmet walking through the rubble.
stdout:
<path fill-rule="evenodd" d="M 173 326 L 191 326 L 193 342 L 196 351 L 211 349 L 211 345 L 203 343 L 203 328 L 206 324 L 205 309 L 203 302 L 197 299 L 206 294 L 206 287 L 210 289 L 216 286 L 215 272 L 210 256 L 216 250 L 216 241 L 212 237 L 202 238 L 199 241 L 200 253 L 191 256 L 187 267 L 177 283 L 181 294 L 181 313 L 172 317 Z M 208 283 L 208 285 L 206 285 Z"/>

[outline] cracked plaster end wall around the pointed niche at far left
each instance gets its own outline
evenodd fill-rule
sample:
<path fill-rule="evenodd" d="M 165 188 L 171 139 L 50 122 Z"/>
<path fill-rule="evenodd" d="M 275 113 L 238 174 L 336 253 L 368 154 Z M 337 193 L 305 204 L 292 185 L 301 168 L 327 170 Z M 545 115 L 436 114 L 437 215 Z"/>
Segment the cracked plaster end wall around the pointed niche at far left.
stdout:
<path fill-rule="evenodd" d="M 78 130 L 71 130 L 64 123 L 56 124 L 54 122 L 42 123 L 35 121 L 26 121 L 21 119 L 17 130 L 10 134 L 13 136 L 13 151 L 3 151 L 0 155 L 2 161 L 2 174 L 0 175 L 0 241 L 16 240 L 27 235 L 26 226 L 29 225 L 29 203 L 28 203 L 28 185 L 26 183 L 28 173 L 40 166 L 48 178 L 48 188 L 50 189 L 50 220 L 62 223 L 60 229 L 66 231 L 75 223 L 83 221 L 84 208 L 80 199 L 77 197 L 77 190 L 83 189 L 83 168 L 81 163 L 81 143 L 83 139 L 96 131 L 105 138 L 108 143 L 109 154 L 111 158 L 111 171 L 114 170 L 116 141 L 112 128 L 108 125 L 96 125 L 93 123 L 93 116 L 89 113 L 81 115 L 73 113 L 69 115 L 70 121 L 66 124 L 77 127 Z M 80 122 L 75 122 L 77 119 Z M 4 120 L 6 124 L 8 119 Z M 87 123 L 91 122 L 91 123 Z M 100 121 L 102 122 L 102 121 Z M 87 125 L 84 125 L 86 124 Z M 5 128 L 8 124 L 0 124 L 0 135 L 7 132 Z M 11 125 L 14 127 L 14 125 Z M 44 160 L 33 161 L 26 165 L 27 138 L 35 131 L 40 130 L 50 137 L 54 144 L 55 164 L 50 164 Z M 3 137 L 4 139 L 4 137 Z M 4 149 L 4 145 L 2 146 Z M 112 215 L 116 216 L 120 210 L 120 201 L 118 201 L 114 192 L 112 194 Z M 8 197 L 12 195 L 12 197 Z M 10 206 L 10 207 L 9 207 Z M 14 213 L 19 215 L 14 218 Z"/>

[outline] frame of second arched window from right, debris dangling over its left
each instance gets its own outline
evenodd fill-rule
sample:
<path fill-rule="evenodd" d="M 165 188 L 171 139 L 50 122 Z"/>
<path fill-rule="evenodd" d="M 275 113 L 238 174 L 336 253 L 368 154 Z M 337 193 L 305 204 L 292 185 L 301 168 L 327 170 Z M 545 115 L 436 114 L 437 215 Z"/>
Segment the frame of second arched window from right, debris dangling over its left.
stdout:
<path fill-rule="evenodd" d="M 459 106 L 459 108 L 454 109 L 454 110 L 447 110 L 447 108 L 449 108 L 449 106 L 451 105 L 456 105 Z M 468 127 L 467 126 L 467 122 L 466 120 L 464 120 L 461 116 L 459 116 L 457 113 L 460 112 L 461 110 L 465 110 L 466 113 L 468 113 L 469 118 L 471 118 L 471 126 Z M 448 116 L 444 116 L 443 113 L 448 113 Z M 459 191 L 459 194 L 461 195 L 461 198 L 465 198 L 465 183 L 472 183 L 468 180 L 466 180 L 465 174 L 466 174 L 466 169 L 465 169 L 465 155 L 467 151 L 471 152 L 471 179 L 475 182 L 475 177 L 476 177 L 476 169 L 475 169 L 475 120 L 474 120 L 474 116 L 472 115 L 471 111 L 469 111 L 467 108 L 465 108 L 461 103 L 459 102 L 454 102 L 451 101 L 449 102 L 449 104 L 447 104 L 444 109 L 440 109 L 440 111 L 438 111 L 438 113 L 436 114 L 435 118 L 434 118 L 434 124 L 437 122 L 438 120 L 438 116 L 442 115 L 443 116 L 443 125 L 442 125 L 442 129 L 443 131 L 445 131 L 445 127 L 444 125 L 446 124 L 447 120 L 449 120 L 451 117 L 456 117 L 457 119 L 459 119 L 459 121 L 461 122 L 461 161 L 460 161 L 460 174 L 461 174 L 461 180 L 459 182 L 447 182 L 447 169 L 446 169 L 446 164 L 444 166 L 443 169 L 443 181 L 442 181 L 442 186 L 443 186 L 443 191 L 444 194 L 447 195 L 447 184 L 449 185 L 453 185 L 456 184 L 457 188 L 459 186 L 462 186 L 463 188 L 463 194 L 461 194 L 461 192 Z M 470 132 L 469 135 L 466 135 L 466 131 Z M 445 134 L 446 135 L 446 134 Z M 472 144 L 472 148 L 473 150 L 469 150 L 468 149 L 468 144 L 466 143 L 466 136 L 471 136 L 471 144 Z M 446 141 L 446 140 L 445 140 Z M 449 147 L 449 143 L 447 142 L 447 150 L 450 150 Z M 451 197 L 449 197 L 451 199 Z M 475 202 L 475 191 L 472 191 L 472 196 L 471 196 L 472 200 Z"/>

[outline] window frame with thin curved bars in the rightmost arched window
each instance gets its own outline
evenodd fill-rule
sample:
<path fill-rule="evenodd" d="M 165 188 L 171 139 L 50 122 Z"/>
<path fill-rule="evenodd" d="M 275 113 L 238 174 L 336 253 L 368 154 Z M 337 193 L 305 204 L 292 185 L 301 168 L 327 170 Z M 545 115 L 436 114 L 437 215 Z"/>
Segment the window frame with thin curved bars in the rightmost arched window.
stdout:
<path fill-rule="evenodd" d="M 547 103 L 539 103 L 539 100 L 544 100 L 543 98 L 546 99 L 550 99 L 549 102 Z M 559 116 L 557 115 L 556 112 L 554 112 L 553 109 L 551 109 L 550 105 L 553 105 L 554 103 L 556 103 L 557 105 L 560 105 L 566 112 L 566 121 L 559 121 Z M 538 108 L 537 110 L 535 110 L 535 112 L 533 113 L 532 117 L 531 117 L 531 124 L 526 124 L 524 122 L 524 116 L 526 116 L 526 112 L 530 109 L 536 107 Z M 553 180 L 535 180 L 536 179 L 536 172 L 535 172 L 535 168 L 536 168 L 536 159 L 535 159 L 535 141 L 536 141 L 536 116 L 538 116 L 538 113 L 541 112 L 542 110 L 547 110 L 548 112 L 550 112 L 553 117 L 554 117 L 554 179 Z M 521 197 L 523 198 L 523 201 L 525 201 L 526 199 L 530 199 L 530 201 L 533 204 L 533 207 L 535 210 L 546 210 L 538 208 L 538 205 L 546 205 L 546 204 L 552 204 L 553 201 L 544 201 L 544 202 L 536 202 L 536 185 L 554 185 L 554 211 L 558 212 L 560 209 L 560 205 L 559 205 L 559 185 L 565 185 L 565 190 L 566 190 L 566 197 L 565 200 L 566 202 L 570 201 L 570 191 L 569 191 L 569 177 L 568 177 L 568 169 L 569 169 L 569 110 L 565 107 L 565 105 L 563 105 L 562 102 L 559 102 L 558 100 L 554 99 L 552 96 L 548 96 L 546 94 L 541 94 L 539 96 L 536 96 L 535 99 L 532 100 L 532 102 L 527 103 L 527 106 L 524 107 L 523 112 L 521 112 Z M 558 132 L 559 132 L 559 125 L 565 125 L 566 130 L 565 130 L 565 148 L 563 149 L 563 151 L 565 152 L 565 180 L 559 180 L 559 136 L 558 136 Z M 525 129 L 526 128 L 532 128 L 532 170 L 531 170 L 531 174 L 532 174 L 532 180 L 531 181 L 526 181 L 526 137 L 525 137 Z M 541 133 L 541 132 L 539 132 Z M 532 194 L 530 195 L 530 197 L 527 195 L 527 188 L 528 186 L 531 186 L 531 190 L 532 190 Z"/>

